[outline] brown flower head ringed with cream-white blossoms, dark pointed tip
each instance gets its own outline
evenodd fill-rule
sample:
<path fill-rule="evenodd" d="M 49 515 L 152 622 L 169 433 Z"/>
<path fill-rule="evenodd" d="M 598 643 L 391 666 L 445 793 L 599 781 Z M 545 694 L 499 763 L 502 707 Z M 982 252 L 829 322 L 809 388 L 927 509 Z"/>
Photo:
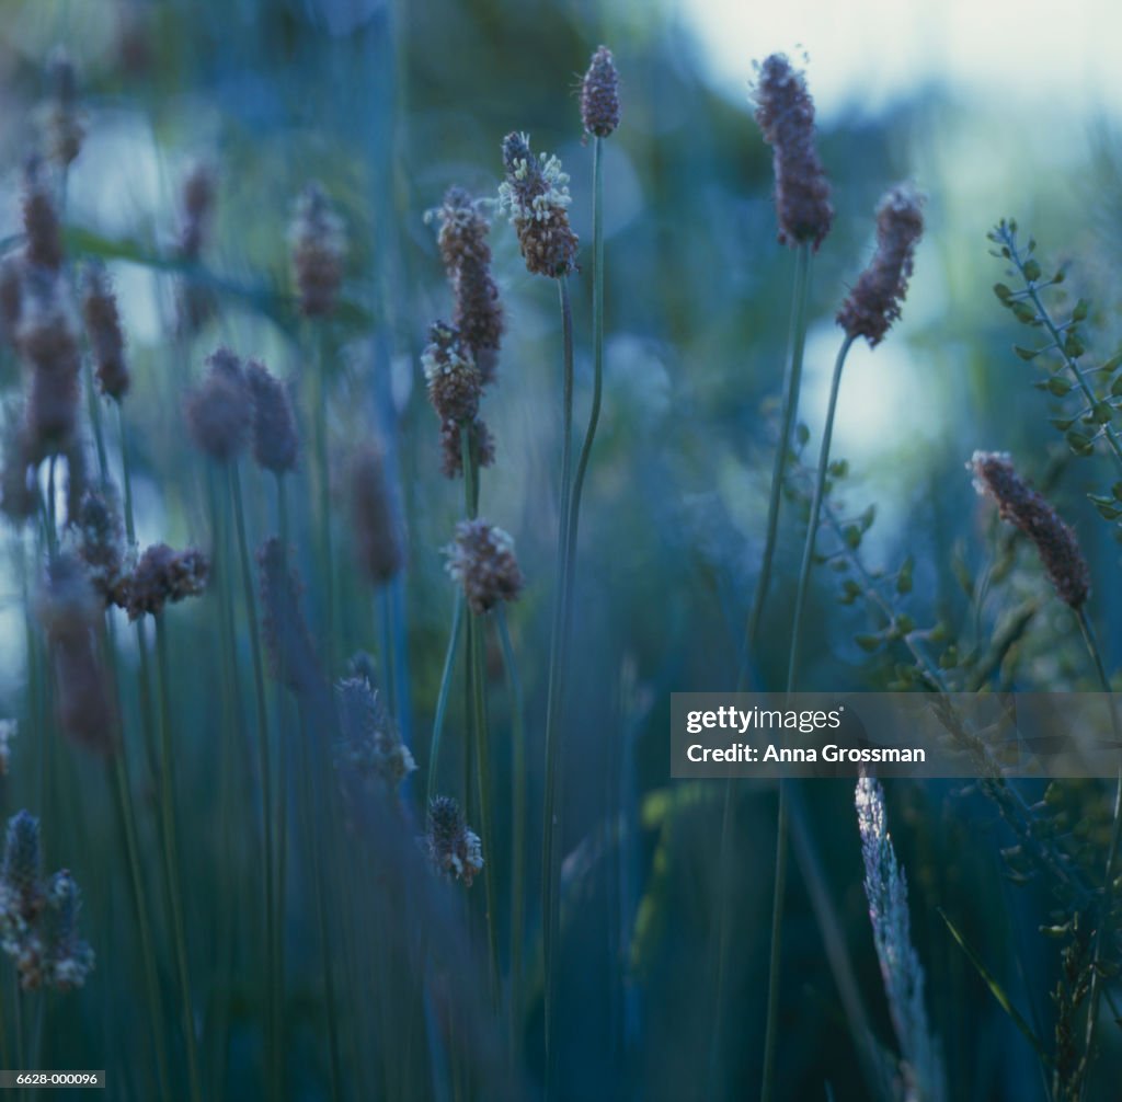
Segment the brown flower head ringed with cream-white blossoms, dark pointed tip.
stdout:
<path fill-rule="evenodd" d="M 518 235 L 526 268 L 559 278 L 576 267 L 579 239 L 569 226 L 569 176 L 561 162 L 544 153 L 535 157 L 525 134 L 503 139 L 506 180 L 499 185 L 499 209 Z"/>

